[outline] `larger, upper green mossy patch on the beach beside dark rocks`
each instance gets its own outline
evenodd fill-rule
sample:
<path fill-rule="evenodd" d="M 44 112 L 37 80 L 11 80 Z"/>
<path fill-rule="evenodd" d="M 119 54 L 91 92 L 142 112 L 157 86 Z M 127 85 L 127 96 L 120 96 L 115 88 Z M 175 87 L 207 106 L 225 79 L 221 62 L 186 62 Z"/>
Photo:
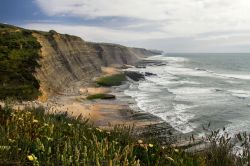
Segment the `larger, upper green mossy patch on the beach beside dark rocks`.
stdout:
<path fill-rule="evenodd" d="M 96 83 L 100 86 L 119 86 L 123 81 L 126 81 L 126 76 L 122 73 L 101 77 L 96 80 Z"/>

